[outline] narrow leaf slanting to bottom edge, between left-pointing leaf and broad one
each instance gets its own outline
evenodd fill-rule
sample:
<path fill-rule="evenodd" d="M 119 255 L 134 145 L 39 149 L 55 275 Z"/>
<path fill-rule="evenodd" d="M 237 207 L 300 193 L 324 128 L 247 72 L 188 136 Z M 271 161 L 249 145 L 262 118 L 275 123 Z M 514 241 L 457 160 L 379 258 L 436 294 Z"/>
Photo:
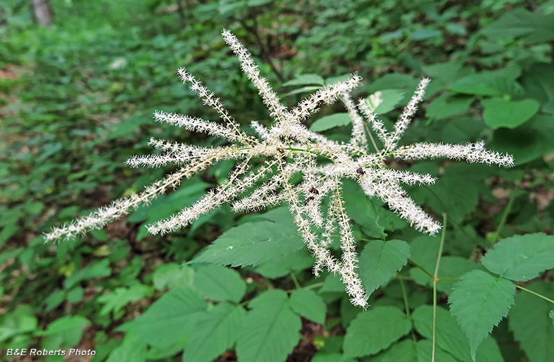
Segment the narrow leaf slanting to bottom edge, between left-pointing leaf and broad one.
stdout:
<path fill-rule="evenodd" d="M 242 332 L 246 312 L 242 307 L 222 303 L 202 314 L 195 332 L 185 343 L 183 361 L 213 361 L 229 350 Z"/>

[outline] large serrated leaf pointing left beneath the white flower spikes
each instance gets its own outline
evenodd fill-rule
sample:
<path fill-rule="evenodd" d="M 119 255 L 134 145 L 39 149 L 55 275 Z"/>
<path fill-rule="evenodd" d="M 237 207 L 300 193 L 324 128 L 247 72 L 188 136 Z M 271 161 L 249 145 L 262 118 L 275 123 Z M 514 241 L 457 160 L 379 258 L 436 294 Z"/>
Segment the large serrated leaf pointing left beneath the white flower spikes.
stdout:
<path fill-rule="evenodd" d="M 292 217 L 279 222 L 248 222 L 227 230 L 190 263 L 247 266 L 271 262 L 303 248 Z"/>

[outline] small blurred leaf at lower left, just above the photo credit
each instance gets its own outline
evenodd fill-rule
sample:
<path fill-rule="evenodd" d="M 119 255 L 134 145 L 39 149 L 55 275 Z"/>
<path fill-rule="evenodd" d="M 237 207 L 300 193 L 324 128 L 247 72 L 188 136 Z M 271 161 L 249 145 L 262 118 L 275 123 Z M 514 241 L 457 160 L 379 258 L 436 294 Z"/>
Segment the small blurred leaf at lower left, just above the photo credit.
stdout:
<path fill-rule="evenodd" d="M 37 335 L 45 336 L 42 347 L 46 350 L 57 350 L 60 347 L 73 347 L 79 343 L 83 327 L 91 323 L 82 316 L 64 316 L 54 320 L 44 332 Z"/>

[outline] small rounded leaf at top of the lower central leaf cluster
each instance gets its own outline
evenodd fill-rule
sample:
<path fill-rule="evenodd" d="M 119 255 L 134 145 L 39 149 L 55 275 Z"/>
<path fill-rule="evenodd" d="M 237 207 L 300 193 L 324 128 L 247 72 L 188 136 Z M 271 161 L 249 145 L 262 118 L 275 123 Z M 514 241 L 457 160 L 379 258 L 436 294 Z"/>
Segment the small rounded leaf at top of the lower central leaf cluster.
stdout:
<path fill-rule="evenodd" d="M 211 300 L 238 303 L 247 290 L 240 274 L 224 266 L 209 264 L 201 266 L 195 276 L 196 290 Z"/>

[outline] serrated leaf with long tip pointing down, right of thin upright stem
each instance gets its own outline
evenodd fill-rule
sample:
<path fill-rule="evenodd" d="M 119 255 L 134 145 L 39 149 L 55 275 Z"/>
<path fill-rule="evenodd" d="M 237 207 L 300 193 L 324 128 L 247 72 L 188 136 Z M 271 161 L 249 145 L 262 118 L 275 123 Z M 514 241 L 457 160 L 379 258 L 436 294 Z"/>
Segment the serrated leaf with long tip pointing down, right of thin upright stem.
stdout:
<path fill-rule="evenodd" d="M 465 273 L 450 294 L 450 312 L 470 340 L 472 359 L 479 343 L 508 314 L 514 303 L 515 285 L 484 271 Z"/>

